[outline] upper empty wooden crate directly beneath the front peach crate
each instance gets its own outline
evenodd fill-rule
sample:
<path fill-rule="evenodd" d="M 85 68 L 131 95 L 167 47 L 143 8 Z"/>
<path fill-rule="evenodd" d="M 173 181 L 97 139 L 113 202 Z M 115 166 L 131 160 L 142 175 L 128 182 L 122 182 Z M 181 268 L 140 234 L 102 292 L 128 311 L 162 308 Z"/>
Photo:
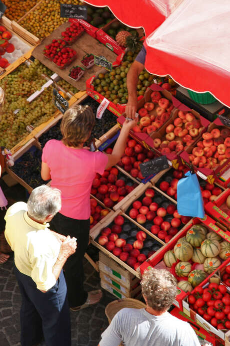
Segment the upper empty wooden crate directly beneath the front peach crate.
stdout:
<path fill-rule="evenodd" d="M 99 252 L 99 270 L 109 275 L 109 277 L 127 290 L 131 291 L 139 284 L 139 278 L 130 273 L 122 265 L 114 261 L 112 258 L 105 255 L 102 251 Z"/>

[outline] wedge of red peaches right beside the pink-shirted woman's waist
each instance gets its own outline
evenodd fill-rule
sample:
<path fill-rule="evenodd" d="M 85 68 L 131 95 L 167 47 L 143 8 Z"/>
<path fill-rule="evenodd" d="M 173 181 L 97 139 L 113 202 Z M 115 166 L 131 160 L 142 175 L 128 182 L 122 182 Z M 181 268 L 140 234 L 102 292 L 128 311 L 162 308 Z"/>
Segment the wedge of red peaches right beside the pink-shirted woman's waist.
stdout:
<path fill-rule="evenodd" d="M 94 226 L 98 223 L 101 223 L 101 220 L 108 215 L 109 213 L 113 213 L 111 209 L 106 208 L 103 203 L 97 201 L 95 198 L 90 198 L 90 230 L 93 231 Z"/>

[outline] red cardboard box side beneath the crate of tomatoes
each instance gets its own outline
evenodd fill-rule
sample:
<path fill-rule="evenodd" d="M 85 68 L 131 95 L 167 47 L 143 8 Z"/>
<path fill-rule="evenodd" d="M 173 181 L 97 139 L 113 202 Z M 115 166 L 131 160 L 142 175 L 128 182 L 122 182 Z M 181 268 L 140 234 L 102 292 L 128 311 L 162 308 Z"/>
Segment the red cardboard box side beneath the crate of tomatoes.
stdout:
<path fill-rule="evenodd" d="M 219 342 L 219 340 L 216 339 L 215 335 L 206 331 L 206 329 L 200 327 L 198 323 L 196 323 L 193 319 L 191 319 L 189 316 L 187 316 L 184 312 L 180 311 L 176 307 L 174 307 L 173 310 L 170 311 L 170 314 L 183 321 L 188 322 L 190 326 L 194 329 L 201 345 L 204 345 L 205 342 L 210 342 L 210 346 L 224 346 L 222 343 Z"/>

